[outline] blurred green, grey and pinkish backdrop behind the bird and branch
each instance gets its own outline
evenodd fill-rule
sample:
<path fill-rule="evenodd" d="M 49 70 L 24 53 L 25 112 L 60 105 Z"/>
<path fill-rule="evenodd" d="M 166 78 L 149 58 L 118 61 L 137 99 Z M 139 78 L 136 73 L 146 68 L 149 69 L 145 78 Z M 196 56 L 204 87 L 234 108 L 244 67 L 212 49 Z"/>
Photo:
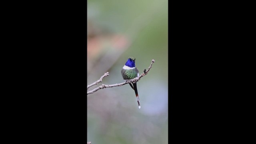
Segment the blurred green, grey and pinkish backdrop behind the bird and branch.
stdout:
<path fill-rule="evenodd" d="M 87 95 L 87 141 L 92 144 L 168 143 L 168 0 L 87 1 L 87 85 L 124 82 L 129 56 L 140 71 L 141 108 L 129 84 Z"/>

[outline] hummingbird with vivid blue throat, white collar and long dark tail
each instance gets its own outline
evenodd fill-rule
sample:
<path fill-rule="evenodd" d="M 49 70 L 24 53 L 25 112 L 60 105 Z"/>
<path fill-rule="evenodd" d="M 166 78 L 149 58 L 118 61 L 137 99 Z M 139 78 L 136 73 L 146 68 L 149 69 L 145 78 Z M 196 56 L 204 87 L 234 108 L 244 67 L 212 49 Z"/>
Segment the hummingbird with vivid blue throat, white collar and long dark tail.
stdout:
<path fill-rule="evenodd" d="M 139 77 L 139 71 L 135 66 L 135 59 L 133 57 L 129 57 L 127 62 L 125 63 L 124 67 L 121 70 L 121 74 L 124 78 L 124 80 L 128 81 L 131 80 L 133 78 Z M 132 87 L 132 89 L 135 91 L 135 95 L 136 95 L 136 99 L 140 108 L 140 99 L 139 99 L 139 95 L 138 95 L 138 90 L 137 90 L 137 84 L 136 82 L 129 83 L 130 86 Z"/>

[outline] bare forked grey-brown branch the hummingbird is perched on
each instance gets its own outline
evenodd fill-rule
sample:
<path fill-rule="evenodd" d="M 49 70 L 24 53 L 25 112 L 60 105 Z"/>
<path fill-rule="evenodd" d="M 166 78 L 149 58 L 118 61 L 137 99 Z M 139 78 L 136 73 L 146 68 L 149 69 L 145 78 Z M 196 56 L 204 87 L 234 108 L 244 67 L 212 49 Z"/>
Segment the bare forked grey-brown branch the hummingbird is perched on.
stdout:
<path fill-rule="evenodd" d="M 128 80 L 128 81 L 123 82 L 123 83 L 120 83 L 120 84 L 111 84 L 111 85 L 102 84 L 102 85 L 99 86 L 98 88 L 94 88 L 93 90 L 87 92 L 87 95 L 88 95 L 88 94 L 92 94 L 92 93 L 94 93 L 94 92 L 96 92 L 97 90 L 100 90 L 100 89 L 112 88 L 112 87 L 114 87 L 114 86 L 123 86 L 123 85 L 128 84 L 128 83 L 138 82 L 138 81 L 140 80 L 140 78 L 142 78 L 143 76 L 145 76 L 146 74 L 148 74 L 148 71 L 150 70 L 150 68 L 152 68 L 152 64 L 153 64 L 154 62 L 155 62 L 155 60 L 152 60 L 150 66 L 149 66 L 149 68 L 148 68 L 148 70 L 144 71 L 144 73 L 142 73 L 139 77 L 136 77 L 136 78 L 134 78 L 134 79 L 132 79 L 132 80 Z M 106 74 L 107 74 L 107 76 L 108 76 L 108 72 L 106 72 L 106 73 L 100 78 L 101 81 L 98 80 L 98 81 L 96 81 L 96 82 L 98 82 L 98 83 L 99 83 L 99 82 L 102 82 L 102 78 L 104 78 Z M 94 82 L 94 83 L 96 83 L 96 82 Z M 93 83 L 93 84 L 90 84 L 89 87 L 95 85 L 94 83 Z M 97 84 L 97 83 L 96 83 L 96 84 Z M 89 87 L 87 86 L 87 89 L 88 89 Z"/>

